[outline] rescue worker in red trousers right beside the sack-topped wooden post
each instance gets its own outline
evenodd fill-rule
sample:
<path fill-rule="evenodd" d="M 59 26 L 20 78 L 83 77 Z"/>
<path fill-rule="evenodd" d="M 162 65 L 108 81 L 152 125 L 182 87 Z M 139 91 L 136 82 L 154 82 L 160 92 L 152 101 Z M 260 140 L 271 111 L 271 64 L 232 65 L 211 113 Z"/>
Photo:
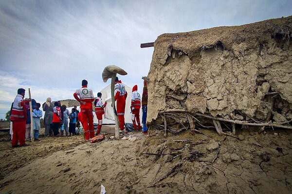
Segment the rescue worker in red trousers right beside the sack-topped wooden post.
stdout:
<path fill-rule="evenodd" d="M 126 98 L 128 96 L 128 93 L 126 91 L 126 88 L 122 81 L 119 80 L 118 77 L 115 79 L 115 87 L 114 87 L 114 101 L 117 101 L 117 114 L 118 114 L 118 119 L 120 121 L 120 130 L 124 131 L 126 134 L 127 131 L 125 129 L 125 107 L 126 107 Z"/>

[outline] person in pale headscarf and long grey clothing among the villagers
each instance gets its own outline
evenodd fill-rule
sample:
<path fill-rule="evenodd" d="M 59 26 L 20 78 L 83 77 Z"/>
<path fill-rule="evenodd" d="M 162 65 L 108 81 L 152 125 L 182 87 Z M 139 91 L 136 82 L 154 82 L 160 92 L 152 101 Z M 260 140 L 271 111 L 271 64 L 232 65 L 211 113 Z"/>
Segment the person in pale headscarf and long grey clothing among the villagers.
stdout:
<path fill-rule="evenodd" d="M 53 129 L 51 129 L 50 125 L 53 123 L 53 109 L 54 104 L 50 97 L 47 98 L 47 102 L 42 105 L 43 111 L 45 112 L 44 116 L 44 125 L 45 125 L 45 136 L 48 137 L 53 136 Z"/>

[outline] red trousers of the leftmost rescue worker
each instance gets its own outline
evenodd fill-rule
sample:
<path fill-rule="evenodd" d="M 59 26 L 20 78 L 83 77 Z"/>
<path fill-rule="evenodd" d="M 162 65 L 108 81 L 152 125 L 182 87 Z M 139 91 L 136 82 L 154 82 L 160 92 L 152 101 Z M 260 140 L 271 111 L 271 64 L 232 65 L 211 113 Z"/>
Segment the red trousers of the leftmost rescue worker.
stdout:
<path fill-rule="evenodd" d="M 17 146 L 18 141 L 20 146 L 25 145 L 25 119 L 13 121 L 12 130 L 13 138 L 11 141 L 11 145 Z"/>

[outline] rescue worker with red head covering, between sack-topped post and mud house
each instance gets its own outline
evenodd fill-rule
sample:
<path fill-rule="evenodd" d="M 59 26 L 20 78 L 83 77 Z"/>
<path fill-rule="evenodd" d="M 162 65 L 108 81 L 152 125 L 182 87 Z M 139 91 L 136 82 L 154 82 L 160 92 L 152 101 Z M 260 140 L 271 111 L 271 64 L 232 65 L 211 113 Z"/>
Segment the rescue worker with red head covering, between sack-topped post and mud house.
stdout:
<path fill-rule="evenodd" d="M 132 98 L 131 98 L 131 111 L 132 111 L 132 121 L 134 129 L 137 130 L 136 121 L 138 125 L 138 130 L 141 130 L 140 125 L 140 108 L 141 108 L 141 97 L 140 94 L 137 92 L 138 86 L 134 85 L 132 90 Z"/>

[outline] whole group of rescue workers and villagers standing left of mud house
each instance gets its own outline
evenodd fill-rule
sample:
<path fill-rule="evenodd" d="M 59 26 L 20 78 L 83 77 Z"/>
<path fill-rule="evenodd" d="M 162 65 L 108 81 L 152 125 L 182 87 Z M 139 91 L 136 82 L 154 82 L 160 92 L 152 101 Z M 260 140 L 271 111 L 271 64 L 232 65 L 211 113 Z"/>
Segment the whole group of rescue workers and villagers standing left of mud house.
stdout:
<path fill-rule="evenodd" d="M 80 113 L 77 107 L 70 111 L 66 105 L 61 105 L 60 101 L 52 102 L 50 97 L 47 98 L 46 102 L 42 104 L 44 113 L 44 126 L 45 126 L 45 137 L 58 137 L 72 136 L 80 134 L 82 124 L 84 130 L 84 137 L 86 141 L 89 141 L 95 135 L 99 135 L 102 128 L 103 114 L 105 113 L 104 108 L 107 106 L 107 102 L 103 104 L 102 94 L 97 93 L 97 97 L 94 99 L 94 95 L 91 89 L 87 87 L 88 81 L 83 80 L 81 83 L 82 87 L 77 89 L 73 94 L 73 97 L 80 103 Z M 143 95 L 142 95 L 142 124 L 140 124 L 140 109 L 141 109 L 141 96 L 138 93 L 138 86 L 135 85 L 132 90 L 131 97 L 131 113 L 134 130 L 143 129 L 143 133 L 147 134 L 146 117 L 147 117 L 147 83 L 144 81 Z M 15 97 L 14 102 L 11 105 L 10 110 L 10 121 L 11 121 L 11 139 L 12 147 L 28 146 L 25 144 L 25 139 L 31 138 L 31 123 L 33 123 L 34 129 L 34 140 L 39 141 L 38 135 L 40 130 L 40 118 L 42 117 L 42 111 L 40 110 L 40 103 L 31 98 L 24 98 L 25 89 L 19 88 L 18 94 Z M 115 96 L 114 100 L 117 101 L 116 113 L 119 120 L 119 129 L 121 133 L 127 134 L 125 129 L 125 108 L 126 98 L 128 93 L 125 89 L 124 84 L 121 80 L 116 77 L 115 79 Z M 95 114 L 98 119 L 98 127 L 94 134 L 93 126 L 93 110 L 92 102 L 94 101 Z M 32 110 L 30 109 L 29 103 L 32 104 Z M 31 120 L 32 114 L 32 120 Z M 69 121 L 69 126 L 68 126 Z M 19 142 L 19 145 L 18 145 Z"/>

